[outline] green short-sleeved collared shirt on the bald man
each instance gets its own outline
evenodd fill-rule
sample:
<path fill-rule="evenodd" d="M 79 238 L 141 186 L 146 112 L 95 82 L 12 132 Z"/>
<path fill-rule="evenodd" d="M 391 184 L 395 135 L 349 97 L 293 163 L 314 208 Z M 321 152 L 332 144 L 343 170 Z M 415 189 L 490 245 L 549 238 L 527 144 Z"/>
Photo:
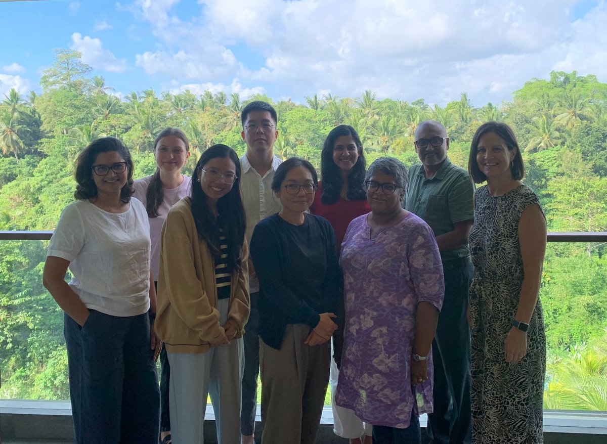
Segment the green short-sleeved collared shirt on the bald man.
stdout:
<path fill-rule="evenodd" d="M 449 157 L 433 177 L 426 178 L 424 165 L 409 168 L 405 209 L 421 217 L 435 236 L 450 232 L 454 224 L 474 218 L 474 184 L 466 170 Z M 467 245 L 441 251 L 443 264 L 470 255 Z"/>

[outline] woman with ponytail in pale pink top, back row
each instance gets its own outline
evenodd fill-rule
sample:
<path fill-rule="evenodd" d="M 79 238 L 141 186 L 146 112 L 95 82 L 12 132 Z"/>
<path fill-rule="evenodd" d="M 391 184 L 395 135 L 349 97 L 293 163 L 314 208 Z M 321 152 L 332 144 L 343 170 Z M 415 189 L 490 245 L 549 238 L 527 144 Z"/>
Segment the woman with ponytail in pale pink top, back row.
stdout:
<path fill-rule="evenodd" d="M 191 178 L 181 174 L 190 156 L 188 137 L 177 128 L 164 129 L 154 141 L 154 157 L 157 168 L 154 174 L 138 179 L 133 184 L 133 194 L 146 207 L 152 239 L 151 264 L 154 280 L 158 280 L 160 260 L 160 230 L 166 215 L 174 204 L 189 194 Z M 163 444 L 171 442 L 169 419 L 169 360 L 164 348 L 160 352 L 160 437 Z"/>

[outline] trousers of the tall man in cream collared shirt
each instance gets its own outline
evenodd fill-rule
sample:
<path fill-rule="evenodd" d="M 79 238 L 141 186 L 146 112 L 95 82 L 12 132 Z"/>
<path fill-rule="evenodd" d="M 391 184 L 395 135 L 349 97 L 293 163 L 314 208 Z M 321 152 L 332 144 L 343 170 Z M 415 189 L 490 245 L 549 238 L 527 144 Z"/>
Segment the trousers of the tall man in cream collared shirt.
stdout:
<path fill-rule="evenodd" d="M 259 312 L 257 299 L 259 292 L 251 293 L 251 313 L 245 326 L 245 371 L 242 377 L 242 409 L 240 411 L 240 432 L 253 435 L 257 410 L 257 377 L 259 376 Z"/>

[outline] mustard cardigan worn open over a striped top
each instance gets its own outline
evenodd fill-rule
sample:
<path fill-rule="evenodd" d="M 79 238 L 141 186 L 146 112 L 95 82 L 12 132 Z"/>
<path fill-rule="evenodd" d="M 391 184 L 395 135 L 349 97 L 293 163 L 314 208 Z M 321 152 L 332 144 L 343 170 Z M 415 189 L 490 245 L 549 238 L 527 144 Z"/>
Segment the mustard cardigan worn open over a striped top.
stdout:
<path fill-rule="evenodd" d="M 232 272 L 228 322 L 242 337 L 249 318 L 248 259 L 243 238 L 242 269 Z M 189 198 L 169 210 L 160 236 L 155 331 L 171 353 L 204 353 L 220 340 L 215 264 L 196 231 Z"/>

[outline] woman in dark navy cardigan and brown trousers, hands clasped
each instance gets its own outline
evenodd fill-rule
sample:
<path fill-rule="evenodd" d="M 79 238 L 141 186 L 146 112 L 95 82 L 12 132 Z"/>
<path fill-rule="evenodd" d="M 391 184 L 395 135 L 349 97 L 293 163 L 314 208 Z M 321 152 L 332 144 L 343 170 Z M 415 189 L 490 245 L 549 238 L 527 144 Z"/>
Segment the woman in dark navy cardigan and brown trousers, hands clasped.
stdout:
<path fill-rule="evenodd" d="M 280 164 L 272 189 L 282 210 L 257 223 L 251 238 L 264 444 L 316 442 L 327 392 L 341 273 L 331 224 L 306 212 L 316 188 L 310 162 Z"/>

